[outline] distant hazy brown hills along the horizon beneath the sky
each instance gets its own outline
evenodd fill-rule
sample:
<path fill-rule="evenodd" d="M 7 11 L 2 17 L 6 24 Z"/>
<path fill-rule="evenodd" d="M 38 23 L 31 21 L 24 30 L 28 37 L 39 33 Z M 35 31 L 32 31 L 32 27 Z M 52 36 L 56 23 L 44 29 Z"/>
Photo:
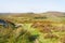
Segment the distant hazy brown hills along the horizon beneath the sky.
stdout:
<path fill-rule="evenodd" d="M 57 16 L 57 17 L 64 17 L 65 13 L 64 12 L 46 12 L 46 13 L 0 13 L 0 15 L 13 15 L 16 17 L 42 17 L 42 16 Z"/>

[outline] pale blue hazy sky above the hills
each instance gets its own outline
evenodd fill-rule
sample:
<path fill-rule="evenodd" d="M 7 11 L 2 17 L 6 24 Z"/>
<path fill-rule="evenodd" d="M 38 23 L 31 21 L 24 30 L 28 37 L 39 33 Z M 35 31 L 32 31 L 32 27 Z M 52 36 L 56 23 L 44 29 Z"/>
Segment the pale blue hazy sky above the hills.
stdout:
<path fill-rule="evenodd" d="M 65 0 L 0 0 L 0 13 L 65 12 Z"/>

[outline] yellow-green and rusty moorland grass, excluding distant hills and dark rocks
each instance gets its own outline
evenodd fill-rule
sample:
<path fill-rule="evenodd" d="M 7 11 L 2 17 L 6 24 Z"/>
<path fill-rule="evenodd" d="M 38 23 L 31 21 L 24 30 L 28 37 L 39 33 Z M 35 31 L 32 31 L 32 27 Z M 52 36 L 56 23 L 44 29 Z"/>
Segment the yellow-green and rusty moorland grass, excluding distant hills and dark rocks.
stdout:
<path fill-rule="evenodd" d="M 4 28 L 0 30 L 0 43 L 63 43 L 65 38 L 65 30 L 64 31 L 54 31 L 53 28 L 60 29 L 60 26 L 64 26 L 63 20 L 62 22 L 55 22 L 51 19 L 51 23 L 49 23 L 48 19 L 31 19 L 28 18 L 26 20 L 22 20 L 22 18 L 17 17 L 12 17 L 12 18 L 6 18 L 6 19 L 12 19 L 14 24 L 23 24 L 18 28 L 13 28 L 11 27 L 12 25 L 9 24 L 9 28 Z M 58 18 L 60 19 L 60 18 Z M 34 25 L 35 23 L 35 25 Z M 38 23 L 38 24 L 36 24 Z M 58 24 L 57 24 L 58 23 Z M 31 27 L 34 25 L 35 27 Z M 50 25 L 50 26 L 49 26 Z M 44 31 L 44 29 L 50 29 L 51 32 L 40 32 L 40 29 Z M 61 28 L 63 29 L 63 28 Z M 64 27 L 65 29 L 65 27 Z M 4 30 L 4 31 L 3 31 Z M 48 31 L 48 30 L 47 30 Z M 56 39 L 57 38 L 57 39 Z M 62 39 L 62 40 L 61 40 Z"/>

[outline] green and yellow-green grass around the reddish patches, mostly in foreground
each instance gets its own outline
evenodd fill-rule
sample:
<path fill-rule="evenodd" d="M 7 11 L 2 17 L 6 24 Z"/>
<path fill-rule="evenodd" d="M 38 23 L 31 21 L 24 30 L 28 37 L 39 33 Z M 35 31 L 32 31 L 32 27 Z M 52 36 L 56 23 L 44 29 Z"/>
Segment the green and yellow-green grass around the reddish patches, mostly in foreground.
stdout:
<path fill-rule="evenodd" d="M 11 19 L 15 24 L 22 24 L 21 18 L 15 18 L 14 17 L 14 18 L 11 18 Z M 35 19 L 32 19 L 32 20 L 35 20 Z M 39 19 L 39 20 L 43 22 L 43 19 Z M 53 18 L 50 17 L 48 20 L 53 20 Z M 58 19 L 58 22 L 60 22 L 60 19 Z M 62 22 L 65 22 L 65 20 L 63 19 Z M 47 33 L 40 32 L 37 28 L 31 27 L 31 24 L 32 23 L 29 23 L 29 20 L 28 20 L 28 22 L 25 22 L 22 27 L 14 28 L 14 29 L 13 28 L 6 29 L 9 34 L 0 37 L 0 43 L 35 43 L 35 42 L 38 42 L 38 43 L 60 43 L 60 39 L 63 38 L 63 35 L 65 35 L 65 31 L 64 32 L 52 31 L 52 34 L 58 35 L 58 39 L 55 39 L 55 38 L 44 39 L 44 35 Z M 2 33 L 5 33 L 5 32 L 2 32 Z"/>

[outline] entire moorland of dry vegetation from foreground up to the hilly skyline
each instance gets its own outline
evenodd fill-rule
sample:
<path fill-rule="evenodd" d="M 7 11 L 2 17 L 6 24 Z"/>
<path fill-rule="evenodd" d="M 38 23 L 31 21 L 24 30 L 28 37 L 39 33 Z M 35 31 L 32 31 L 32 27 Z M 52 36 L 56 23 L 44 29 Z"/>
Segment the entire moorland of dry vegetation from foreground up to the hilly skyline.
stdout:
<path fill-rule="evenodd" d="M 8 27 L 0 25 L 0 43 L 65 43 L 64 14 L 3 14 L 0 19 L 6 22 Z"/>

